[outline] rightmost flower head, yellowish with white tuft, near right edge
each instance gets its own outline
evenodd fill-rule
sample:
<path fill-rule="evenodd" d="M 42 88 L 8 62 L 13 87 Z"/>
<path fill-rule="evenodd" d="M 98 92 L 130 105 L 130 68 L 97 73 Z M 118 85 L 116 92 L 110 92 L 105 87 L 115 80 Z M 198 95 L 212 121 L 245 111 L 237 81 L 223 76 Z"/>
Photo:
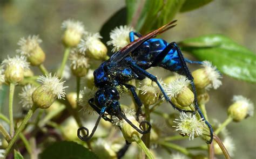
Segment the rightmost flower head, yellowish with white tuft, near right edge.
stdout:
<path fill-rule="evenodd" d="M 233 121 L 239 122 L 246 117 L 251 117 L 254 113 L 254 106 L 251 100 L 243 96 L 234 96 L 233 104 L 228 107 L 227 113 Z"/>

